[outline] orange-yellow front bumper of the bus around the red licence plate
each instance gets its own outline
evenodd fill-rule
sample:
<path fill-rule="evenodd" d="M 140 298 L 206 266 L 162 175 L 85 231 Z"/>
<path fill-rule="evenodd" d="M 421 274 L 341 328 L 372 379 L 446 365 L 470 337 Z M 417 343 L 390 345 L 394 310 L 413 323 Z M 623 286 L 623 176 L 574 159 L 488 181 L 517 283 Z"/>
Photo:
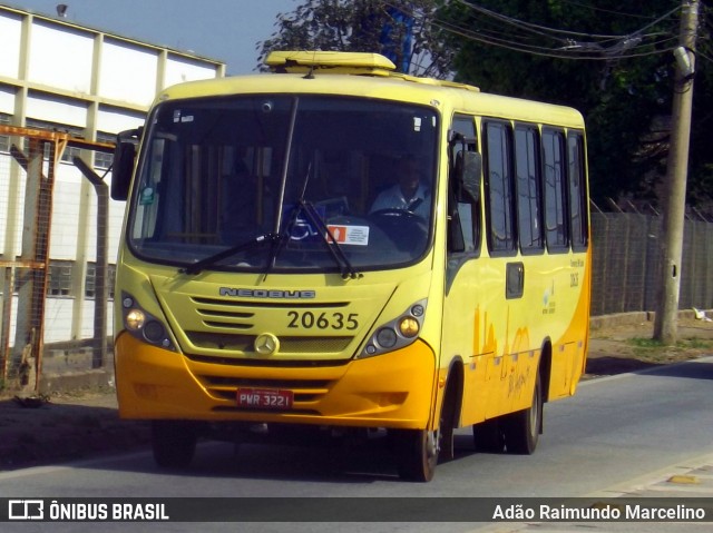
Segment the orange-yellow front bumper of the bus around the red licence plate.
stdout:
<path fill-rule="evenodd" d="M 196 362 L 123 333 L 115 365 L 119 415 L 148 420 L 417 430 L 429 424 L 438 378 L 421 340 L 338 366 L 273 367 Z M 241 407 L 240 387 L 289 389 L 294 402 L 289 409 Z"/>

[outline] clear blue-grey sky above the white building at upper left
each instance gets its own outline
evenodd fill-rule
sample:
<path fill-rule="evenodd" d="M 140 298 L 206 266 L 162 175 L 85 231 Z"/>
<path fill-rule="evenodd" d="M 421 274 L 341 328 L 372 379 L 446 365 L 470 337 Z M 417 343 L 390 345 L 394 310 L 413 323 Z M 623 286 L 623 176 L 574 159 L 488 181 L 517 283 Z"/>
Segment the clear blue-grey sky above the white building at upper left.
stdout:
<path fill-rule="evenodd" d="M 227 75 L 257 68 L 256 43 L 275 31 L 277 13 L 302 0 L 0 0 L 0 4 L 226 63 Z"/>

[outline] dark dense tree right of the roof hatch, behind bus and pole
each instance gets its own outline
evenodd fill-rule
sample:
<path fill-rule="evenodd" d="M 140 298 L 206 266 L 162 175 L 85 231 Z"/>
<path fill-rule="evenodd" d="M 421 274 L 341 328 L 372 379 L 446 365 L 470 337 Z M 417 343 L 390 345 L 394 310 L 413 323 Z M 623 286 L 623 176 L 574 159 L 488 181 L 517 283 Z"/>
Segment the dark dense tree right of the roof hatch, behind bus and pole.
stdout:
<path fill-rule="evenodd" d="M 680 6 L 681 0 L 459 0 L 437 20 L 455 51 L 457 80 L 584 113 L 595 201 L 629 195 L 656 204 Z M 707 46 L 706 39 L 700 42 Z M 707 70 L 696 73 L 691 203 L 710 201 L 713 181 Z"/>

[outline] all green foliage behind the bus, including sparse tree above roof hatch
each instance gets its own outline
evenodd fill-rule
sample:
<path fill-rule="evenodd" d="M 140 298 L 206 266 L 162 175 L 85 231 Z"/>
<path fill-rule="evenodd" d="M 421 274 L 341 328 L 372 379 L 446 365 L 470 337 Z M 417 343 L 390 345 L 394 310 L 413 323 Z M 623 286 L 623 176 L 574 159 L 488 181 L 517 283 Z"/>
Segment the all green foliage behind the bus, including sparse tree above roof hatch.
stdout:
<path fill-rule="evenodd" d="M 272 50 L 382 53 L 412 16 L 409 73 L 448 78 L 488 92 L 572 106 L 588 128 L 590 191 L 597 204 L 628 195 L 663 198 L 674 93 L 672 49 L 681 0 L 305 0 L 281 13 Z M 490 13 L 485 12 L 490 10 Z M 711 203 L 713 52 L 701 6 L 688 171 L 688 201 Z M 495 13 L 495 14 L 492 14 Z M 398 48 L 398 47 L 397 47 Z M 525 49 L 525 51 L 522 51 Z M 401 50 L 397 50 L 401 52 Z M 397 53 L 398 55 L 398 53 Z"/>

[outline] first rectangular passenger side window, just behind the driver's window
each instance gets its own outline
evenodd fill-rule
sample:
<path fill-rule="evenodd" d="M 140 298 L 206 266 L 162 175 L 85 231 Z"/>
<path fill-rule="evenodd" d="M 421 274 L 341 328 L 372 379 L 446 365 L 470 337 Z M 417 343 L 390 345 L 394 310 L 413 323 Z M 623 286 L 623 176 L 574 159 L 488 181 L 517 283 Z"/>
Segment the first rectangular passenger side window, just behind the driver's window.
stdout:
<path fill-rule="evenodd" d="M 509 124 L 485 125 L 485 179 L 488 246 L 497 255 L 515 253 L 511 128 Z"/>

